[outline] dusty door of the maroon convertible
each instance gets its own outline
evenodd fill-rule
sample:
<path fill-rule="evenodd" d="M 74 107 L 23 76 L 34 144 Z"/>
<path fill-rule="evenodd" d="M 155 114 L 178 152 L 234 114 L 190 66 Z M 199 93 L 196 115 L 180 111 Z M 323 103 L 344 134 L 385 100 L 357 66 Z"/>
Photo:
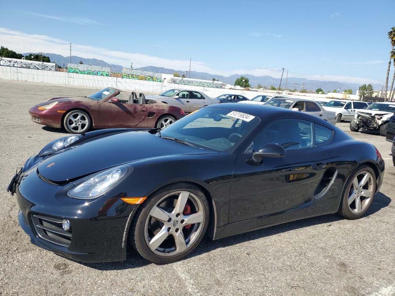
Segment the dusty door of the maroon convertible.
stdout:
<path fill-rule="evenodd" d="M 144 104 L 129 104 L 106 101 L 100 105 L 100 125 L 107 127 L 134 127 L 140 124 L 147 115 Z"/>

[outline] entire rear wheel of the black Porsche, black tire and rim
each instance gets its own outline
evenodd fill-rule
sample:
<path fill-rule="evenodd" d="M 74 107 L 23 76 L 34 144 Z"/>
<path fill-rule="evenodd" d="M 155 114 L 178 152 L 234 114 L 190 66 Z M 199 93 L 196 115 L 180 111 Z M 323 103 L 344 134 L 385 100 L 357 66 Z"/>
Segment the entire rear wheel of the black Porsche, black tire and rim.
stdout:
<path fill-rule="evenodd" d="M 366 182 L 363 184 L 365 176 Z M 357 181 L 355 182 L 354 180 Z M 357 190 L 354 190 L 355 186 L 357 186 Z M 372 204 L 376 186 L 376 175 L 373 169 L 369 165 L 357 167 L 347 179 L 337 214 L 346 219 L 358 219 L 362 217 Z"/>

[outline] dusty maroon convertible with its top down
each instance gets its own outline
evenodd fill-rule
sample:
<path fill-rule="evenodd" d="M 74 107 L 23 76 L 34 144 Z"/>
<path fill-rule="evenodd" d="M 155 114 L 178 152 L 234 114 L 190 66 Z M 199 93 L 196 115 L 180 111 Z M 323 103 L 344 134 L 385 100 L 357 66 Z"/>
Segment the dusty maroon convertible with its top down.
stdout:
<path fill-rule="evenodd" d="M 73 134 L 94 128 L 164 127 L 185 116 L 175 106 L 107 87 L 84 97 L 53 97 L 29 110 L 33 122 Z"/>

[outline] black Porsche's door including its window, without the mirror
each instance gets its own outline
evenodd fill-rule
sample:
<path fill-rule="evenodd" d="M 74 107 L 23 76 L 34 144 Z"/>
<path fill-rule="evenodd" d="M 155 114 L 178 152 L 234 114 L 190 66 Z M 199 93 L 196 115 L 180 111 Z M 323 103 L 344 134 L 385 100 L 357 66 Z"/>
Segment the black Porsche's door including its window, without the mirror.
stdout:
<path fill-rule="evenodd" d="M 229 223 L 289 210 L 314 198 L 329 159 L 323 149 L 314 146 L 313 135 L 310 121 L 280 119 L 269 124 L 238 155 L 232 176 Z M 252 153 L 267 142 L 282 145 L 287 155 L 264 157 L 257 163 Z"/>

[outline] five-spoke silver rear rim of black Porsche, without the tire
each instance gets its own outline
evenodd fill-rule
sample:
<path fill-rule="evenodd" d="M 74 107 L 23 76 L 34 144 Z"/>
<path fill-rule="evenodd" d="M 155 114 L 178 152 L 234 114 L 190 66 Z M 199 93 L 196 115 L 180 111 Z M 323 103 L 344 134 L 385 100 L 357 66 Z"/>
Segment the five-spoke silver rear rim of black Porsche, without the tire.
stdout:
<path fill-rule="evenodd" d="M 357 174 L 352 180 L 348 192 L 348 208 L 354 214 L 363 212 L 370 204 L 373 197 L 374 180 L 368 171 Z"/>

